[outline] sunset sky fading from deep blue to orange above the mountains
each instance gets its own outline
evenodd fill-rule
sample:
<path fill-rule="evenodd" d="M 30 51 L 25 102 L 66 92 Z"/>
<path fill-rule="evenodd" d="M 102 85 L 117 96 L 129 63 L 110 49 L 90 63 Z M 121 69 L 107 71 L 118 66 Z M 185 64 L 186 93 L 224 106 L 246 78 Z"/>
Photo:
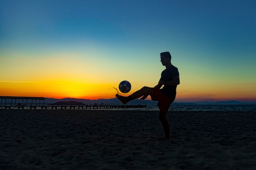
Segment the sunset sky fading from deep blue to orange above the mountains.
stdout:
<path fill-rule="evenodd" d="M 0 96 L 114 98 L 157 85 L 176 102 L 256 102 L 255 0 L 0 1 Z M 150 99 L 150 98 L 148 98 Z"/>

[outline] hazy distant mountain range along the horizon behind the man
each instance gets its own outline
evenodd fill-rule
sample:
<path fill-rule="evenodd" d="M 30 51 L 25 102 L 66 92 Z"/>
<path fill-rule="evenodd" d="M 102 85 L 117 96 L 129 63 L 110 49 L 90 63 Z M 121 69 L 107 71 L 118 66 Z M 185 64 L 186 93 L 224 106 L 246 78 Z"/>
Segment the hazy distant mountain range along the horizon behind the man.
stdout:
<path fill-rule="evenodd" d="M 54 99 L 54 98 L 46 98 L 44 103 L 45 104 L 53 104 L 56 102 L 70 102 L 70 101 L 75 101 L 75 102 L 81 102 L 83 104 L 117 104 L 117 105 L 122 105 L 122 103 L 117 99 L 97 99 L 97 100 L 90 100 L 90 99 L 76 99 L 76 98 L 63 98 L 63 99 Z M 135 99 L 132 100 L 128 103 L 128 105 L 148 105 L 148 106 L 156 106 L 157 101 L 152 101 L 152 100 L 140 100 L 140 99 Z M 172 105 L 228 105 L 228 104 L 256 104 L 256 103 L 248 103 L 248 102 L 237 102 L 235 100 L 231 101 L 226 101 L 226 102 L 173 102 Z"/>

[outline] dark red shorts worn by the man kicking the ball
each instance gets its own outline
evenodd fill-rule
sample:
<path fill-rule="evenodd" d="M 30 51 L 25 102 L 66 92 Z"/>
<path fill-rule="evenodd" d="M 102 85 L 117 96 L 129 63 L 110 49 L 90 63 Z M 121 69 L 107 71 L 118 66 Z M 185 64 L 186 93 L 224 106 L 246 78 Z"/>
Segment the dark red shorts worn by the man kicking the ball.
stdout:
<path fill-rule="evenodd" d="M 151 99 L 154 101 L 158 101 L 157 106 L 160 110 L 160 114 L 166 115 L 169 107 L 171 106 L 174 99 L 163 95 L 159 88 L 151 88 L 153 91 L 153 95 L 151 95 Z"/>

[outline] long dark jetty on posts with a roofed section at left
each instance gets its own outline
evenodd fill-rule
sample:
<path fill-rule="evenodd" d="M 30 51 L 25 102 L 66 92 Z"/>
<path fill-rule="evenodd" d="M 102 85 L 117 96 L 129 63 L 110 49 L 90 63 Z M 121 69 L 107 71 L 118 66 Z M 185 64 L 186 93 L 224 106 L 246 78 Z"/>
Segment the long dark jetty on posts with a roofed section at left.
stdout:
<path fill-rule="evenodd" d="M 45 97 L 15 97 L 0 96 L 0 109 L 113 109 L 113 108 L 146 108 L 146 105 L 116 105 L 116 104 L 45 104 Z"/>

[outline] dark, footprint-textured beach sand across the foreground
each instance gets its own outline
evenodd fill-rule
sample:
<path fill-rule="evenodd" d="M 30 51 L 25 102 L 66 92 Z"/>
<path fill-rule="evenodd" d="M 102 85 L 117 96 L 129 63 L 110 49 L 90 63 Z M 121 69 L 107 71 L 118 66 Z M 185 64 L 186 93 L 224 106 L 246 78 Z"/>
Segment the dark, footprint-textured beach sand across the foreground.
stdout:
<path fill-rule="evenodd" d="M 255 170 L 256 112 L 0 110 L 0 170 Z"/>

